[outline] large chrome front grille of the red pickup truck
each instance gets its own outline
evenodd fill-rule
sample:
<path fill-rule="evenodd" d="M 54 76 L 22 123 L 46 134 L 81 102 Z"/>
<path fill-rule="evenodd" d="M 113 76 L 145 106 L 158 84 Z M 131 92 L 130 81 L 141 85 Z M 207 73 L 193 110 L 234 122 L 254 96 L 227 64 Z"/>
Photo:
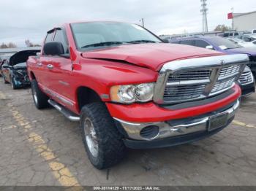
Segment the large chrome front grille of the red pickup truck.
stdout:
<path fill-rule="evenodd" d="M 247 55 L 192 58 L 165 64 L 157 79 L 154 101 L 176 104 L 223 93 L 240 77 Z"/>

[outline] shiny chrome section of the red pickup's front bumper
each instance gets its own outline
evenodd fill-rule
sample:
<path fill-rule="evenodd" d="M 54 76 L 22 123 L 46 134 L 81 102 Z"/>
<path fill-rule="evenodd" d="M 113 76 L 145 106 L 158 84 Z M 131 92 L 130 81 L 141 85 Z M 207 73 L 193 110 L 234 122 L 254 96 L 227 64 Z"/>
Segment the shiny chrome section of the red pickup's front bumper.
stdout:
<path fill-rule="evenodd" d="M 236 112 L 236 109 L 238 109 L 239 103 L 240 101 L 236 101 L 236 104 L 234 104 L 231 108 L 226 109 L 225 111 L 208 114 L 207 116 L 204 116 L 201 118 L 187 120 L 186 122 L 183 122 L 181 124 L 174 125 L 174 126 L 169 125 L 167 122 L 136 123 L 136 122 L 127 122 L 124 120 L 119 120 L 115 117 L 114 119 L 121 123 L 121 126 L 126 131 L 127 135 L 129 136 L 129 139 L 150 141 L 154 139 L 163 139 L 163 138 L 172 137 L 172 136 L 181 136 L 189 133 L 195 133 L 195 132 L 207 130 L 208 121 L 210 117 L 216 114 L 227 113 L 227 120 L 230 120 L 232 117 L 235 116 L 235 112 Z M 159 127 L 159 132 L 157 133 L 157 135 L 152 137 L 151 139 L 146 139 L 140 136 L 140 131 L 143 130 L 143 128 L 146 128 L 151 125 L 156 125 Z"/>

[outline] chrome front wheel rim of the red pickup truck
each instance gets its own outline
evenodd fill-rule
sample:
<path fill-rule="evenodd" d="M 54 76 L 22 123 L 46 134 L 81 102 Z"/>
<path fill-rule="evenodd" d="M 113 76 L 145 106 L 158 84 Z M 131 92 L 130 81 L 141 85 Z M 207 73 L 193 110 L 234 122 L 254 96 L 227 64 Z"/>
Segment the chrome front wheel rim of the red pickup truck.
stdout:
<path fill-rule="evenodd" d="M 94 125 L 89 118 L 84 121 L 84 134 L 86 136 L 86 144 L 91 152 L 91 155 L 97 157 L 99 154 L 99 144 Z"/>

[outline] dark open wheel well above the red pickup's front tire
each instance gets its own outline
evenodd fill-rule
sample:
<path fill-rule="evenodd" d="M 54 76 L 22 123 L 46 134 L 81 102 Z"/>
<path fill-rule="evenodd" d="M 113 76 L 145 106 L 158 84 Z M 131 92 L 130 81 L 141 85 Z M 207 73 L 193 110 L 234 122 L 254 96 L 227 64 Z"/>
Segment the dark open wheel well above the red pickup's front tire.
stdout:
<path fill-rule="evenodd" d="M 79 87 L 77 93 L 80 110 L 86 104 L 102 101 L 99 95 L 89 87 Z"/>

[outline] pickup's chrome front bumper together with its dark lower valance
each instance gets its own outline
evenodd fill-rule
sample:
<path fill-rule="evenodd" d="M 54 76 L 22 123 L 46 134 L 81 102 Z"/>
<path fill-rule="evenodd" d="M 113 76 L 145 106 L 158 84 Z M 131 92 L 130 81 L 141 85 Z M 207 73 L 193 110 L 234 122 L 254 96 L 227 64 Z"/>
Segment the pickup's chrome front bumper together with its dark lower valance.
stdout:
<path fill-rule="evenodd" d="M 169 147 L 203 139 L 219 132 L 219 130 L 225 128 L 233 120 L 238 106 L 239 101 L 237 100 L 233 104 L 225 106 L 225 108 L 208 114 L 165 122 L 136 123 L 126 122 L 117 118 L 114 119 L 118 129 L 126 136 L 124 144 L 127 147 L 133 149 Z M 209 119 L 217 114 L 227 114 L 227 120 L 219 128 L 209 131 Z M 159 129 L 158 133 L 154 134 L 151 138 L 141 136 L 141 130 L 151 126 L 157 126 Z"/>

